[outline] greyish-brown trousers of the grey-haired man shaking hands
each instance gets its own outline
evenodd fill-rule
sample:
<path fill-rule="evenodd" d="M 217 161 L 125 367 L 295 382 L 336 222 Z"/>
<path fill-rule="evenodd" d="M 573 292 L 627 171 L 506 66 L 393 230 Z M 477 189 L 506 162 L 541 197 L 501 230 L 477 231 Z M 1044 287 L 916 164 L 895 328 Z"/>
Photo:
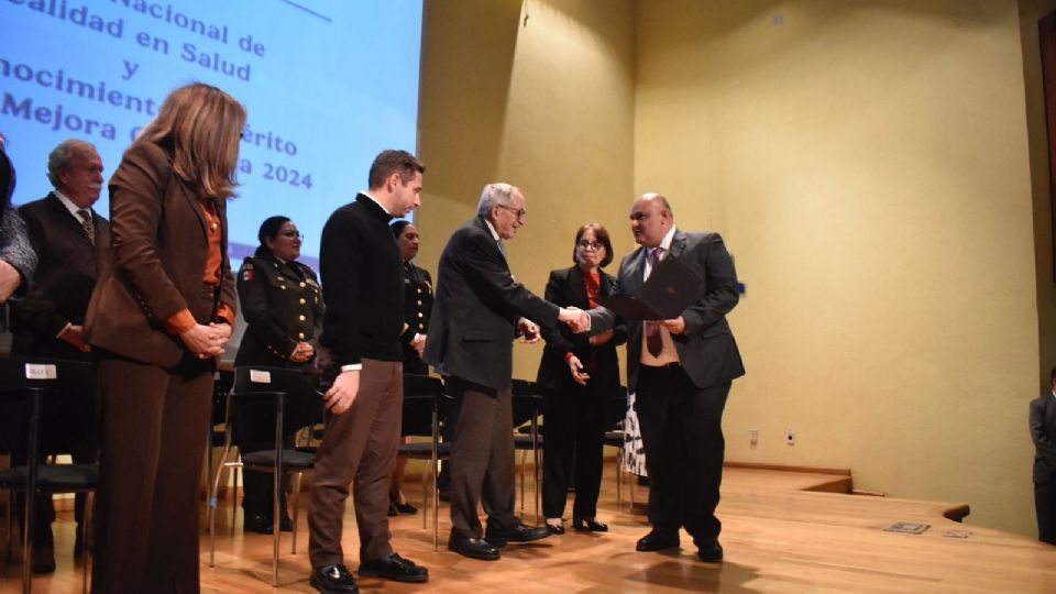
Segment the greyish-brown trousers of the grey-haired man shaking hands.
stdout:
<path fill-rule="evenodd" d="M 482 538 L 476 504 L 499 530 L 513 528 L 514 416 L 513 393 L 458 377 L 448 378 L 459 414 L 451 444 L 451 525 L 465 538 Z"/>

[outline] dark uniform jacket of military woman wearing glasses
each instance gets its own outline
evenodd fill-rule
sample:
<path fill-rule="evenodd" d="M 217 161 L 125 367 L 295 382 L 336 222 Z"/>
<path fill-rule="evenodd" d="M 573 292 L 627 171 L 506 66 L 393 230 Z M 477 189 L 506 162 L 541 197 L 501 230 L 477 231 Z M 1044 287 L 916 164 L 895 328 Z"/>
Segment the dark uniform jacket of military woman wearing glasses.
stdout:
<path fill-rule="evenodd" d="M 298 342 L 318 348 L 324 311 L 316 273 L 271 254 L 248 257 L 239 271 L 246 329 L 235 365 L 300 366 L 289 355 Z"/>

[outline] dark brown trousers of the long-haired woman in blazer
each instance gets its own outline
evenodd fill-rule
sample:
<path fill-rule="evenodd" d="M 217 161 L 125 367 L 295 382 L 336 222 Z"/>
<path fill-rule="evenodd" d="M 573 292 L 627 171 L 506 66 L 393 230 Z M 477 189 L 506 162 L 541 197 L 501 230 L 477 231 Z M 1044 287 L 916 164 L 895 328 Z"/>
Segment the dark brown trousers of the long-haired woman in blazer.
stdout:
<path fill-rule="evenodd" d="M 198 488 L 212 377 L 211 361 L 185 359 L 174 370 L 99 361 L 94 592 L 199 591 Z"/>

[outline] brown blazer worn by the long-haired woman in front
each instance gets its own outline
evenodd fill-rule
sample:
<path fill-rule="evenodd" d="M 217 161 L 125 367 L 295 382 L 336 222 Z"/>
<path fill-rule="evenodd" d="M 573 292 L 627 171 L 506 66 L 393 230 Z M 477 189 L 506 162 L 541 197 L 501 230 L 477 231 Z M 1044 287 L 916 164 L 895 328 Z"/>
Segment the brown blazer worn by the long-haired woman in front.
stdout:
<path fill-rule="evenodd" d="M 130 359 L 175 366 L 187 354 L 165 320 L 189 309 L 198 323 L 235 310 L 228 262 L 227 204 L 216 200 L 222 252 L 219 287 L 205 284 L 206 218 L 196 193 L 173 173 L 169 154 L 136 142 L 110 178 L 113 266 L 100 276 L 85 320 L 86 340 Z"/>

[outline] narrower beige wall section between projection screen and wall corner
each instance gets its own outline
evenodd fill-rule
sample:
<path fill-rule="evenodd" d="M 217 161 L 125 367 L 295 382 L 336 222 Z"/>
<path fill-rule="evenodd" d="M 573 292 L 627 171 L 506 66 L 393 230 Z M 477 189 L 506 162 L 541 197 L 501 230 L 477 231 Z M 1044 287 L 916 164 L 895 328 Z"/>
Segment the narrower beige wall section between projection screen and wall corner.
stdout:
<path fill-rule="evenodd" d="M 583 222 L 614 231 L 618 253 L 630 248 L 632 23 L 630 1 L 426 2 L 424 266 L 436 271 L 448 237 L 475 216 L 484 184 L 501 180 L 528 201 L 508 254 L 514 275 L 538 295 L 549 271 L 572 264 Z M 535 380 L 541 343 L 514 353 L 514 376 Z"/>

